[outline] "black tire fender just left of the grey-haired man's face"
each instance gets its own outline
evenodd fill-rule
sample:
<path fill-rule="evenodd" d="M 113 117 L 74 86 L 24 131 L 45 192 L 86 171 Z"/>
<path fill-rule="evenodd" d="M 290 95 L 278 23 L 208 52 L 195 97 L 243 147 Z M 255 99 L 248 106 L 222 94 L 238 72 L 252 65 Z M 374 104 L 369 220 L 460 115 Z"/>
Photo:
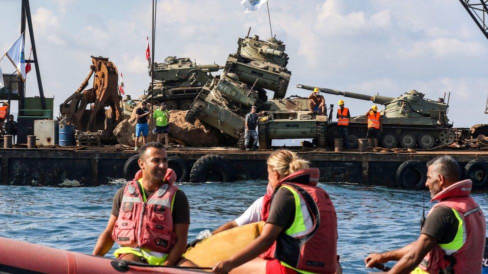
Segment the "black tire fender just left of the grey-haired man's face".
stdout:
<path fill-rule="evenodd" d="M 413 175 L 411 172 L 414 172 L 417 176 L 408 176 Z M 412 181 L 407 181 L 407 177 L 412 179 Z M 425 181 L 427 180 L 427 167 L 424 163 L 415 161 L 415 160 L 408 160 L 403 162 L 398 169 L 396 170 L 396 184 L 402 188 L 407 190 L 421 190 L 425 188 Z"/>

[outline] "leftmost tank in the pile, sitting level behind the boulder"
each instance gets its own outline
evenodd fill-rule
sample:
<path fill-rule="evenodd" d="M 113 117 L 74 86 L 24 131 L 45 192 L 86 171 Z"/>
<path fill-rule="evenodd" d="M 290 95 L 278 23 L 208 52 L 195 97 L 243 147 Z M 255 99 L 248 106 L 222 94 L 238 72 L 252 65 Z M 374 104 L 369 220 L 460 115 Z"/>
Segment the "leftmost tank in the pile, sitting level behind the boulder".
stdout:
<path fill-rule="evenodd" d="M 223 66 L 198 65 L 187 57 L 168 56 L 164 62 L 154 63 L 154 82 L 149 84 L 144 98 L 151 100 L 150 93 L 153 88 L 152 99 L 155 104 L 164 102 L 168 109 L 186 110 L 203 85 L 213 78 L 210 72 L 220 69 L 223 69 Z M 149 68 L 149 75 L 150 73 Z"/>

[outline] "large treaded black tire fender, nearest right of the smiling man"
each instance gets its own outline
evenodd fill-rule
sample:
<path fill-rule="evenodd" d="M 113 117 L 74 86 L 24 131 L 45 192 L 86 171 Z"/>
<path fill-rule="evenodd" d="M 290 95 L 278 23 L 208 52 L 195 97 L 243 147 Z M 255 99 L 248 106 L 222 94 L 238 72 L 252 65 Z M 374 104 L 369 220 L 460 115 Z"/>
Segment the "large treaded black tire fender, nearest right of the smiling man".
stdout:
<path fill-rule="evenodd" d="M 193 164 L 190 172 L 190 182 L 202 183 L 208 180 L 230 182 L 232 170 L 222 156 L 207 154 L 200 157 Z"/>

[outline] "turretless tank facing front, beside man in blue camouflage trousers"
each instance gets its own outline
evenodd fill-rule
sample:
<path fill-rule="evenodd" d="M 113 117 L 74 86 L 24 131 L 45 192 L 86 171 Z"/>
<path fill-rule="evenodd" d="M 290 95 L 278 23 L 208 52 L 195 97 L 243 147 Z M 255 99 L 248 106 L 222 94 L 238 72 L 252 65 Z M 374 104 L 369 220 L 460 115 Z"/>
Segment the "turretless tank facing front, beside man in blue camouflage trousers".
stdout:
<path fill-rule="evenodd" d="M 326 147 L 327 116 L 308 109 L 309 99 L 274 99 L 262 105 L 258 119 L 259 149 L 270 149 L 273 139 L 312 138 L 317 147 Z"/>

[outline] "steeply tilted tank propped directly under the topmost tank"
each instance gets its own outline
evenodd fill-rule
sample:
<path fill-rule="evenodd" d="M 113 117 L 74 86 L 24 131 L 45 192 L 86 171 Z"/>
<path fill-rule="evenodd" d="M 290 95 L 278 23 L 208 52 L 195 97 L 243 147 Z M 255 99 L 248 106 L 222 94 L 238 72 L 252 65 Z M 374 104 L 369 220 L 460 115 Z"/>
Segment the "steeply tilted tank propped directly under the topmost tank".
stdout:
<path fill-rule="evenodd" d="M 196 119 L 219 129 L 243 145 L 244 118 L 251 106 L 260 106 L 267 100 L 264 90 L 254 89 L 239 82 L 233 73 L 224 73 L 207 82 L 186 112 L 185 120 Z"/>

